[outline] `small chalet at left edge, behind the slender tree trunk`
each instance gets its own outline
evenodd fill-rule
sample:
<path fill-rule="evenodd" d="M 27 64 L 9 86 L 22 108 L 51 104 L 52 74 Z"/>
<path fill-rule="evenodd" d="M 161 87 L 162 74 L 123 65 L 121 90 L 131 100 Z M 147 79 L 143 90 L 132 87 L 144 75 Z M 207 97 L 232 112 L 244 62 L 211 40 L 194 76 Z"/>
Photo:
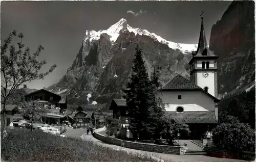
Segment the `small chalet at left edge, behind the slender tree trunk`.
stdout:
<path fill-rule="evenodd" d="M 1 128 L 4 126 L 4 104 L 1 104 Z M 19 112 L 18 106 L 15 104 L 6 104 L 6 119 L 7 119 L 7 126 L 13 123 L 13 116 L 14 114 Z"/>

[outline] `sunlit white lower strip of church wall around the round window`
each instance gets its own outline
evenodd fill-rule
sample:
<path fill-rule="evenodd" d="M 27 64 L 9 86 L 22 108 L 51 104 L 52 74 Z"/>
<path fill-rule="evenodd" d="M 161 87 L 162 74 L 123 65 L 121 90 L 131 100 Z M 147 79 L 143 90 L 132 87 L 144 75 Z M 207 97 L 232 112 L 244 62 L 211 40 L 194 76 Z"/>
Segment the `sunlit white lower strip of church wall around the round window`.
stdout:
<path fill-rule="evenodd" d="M 165 111 L 176 112 L 178 106 L 183 107 L 184 112 L 208 111 L 198 104 L 165 104 Z"/>

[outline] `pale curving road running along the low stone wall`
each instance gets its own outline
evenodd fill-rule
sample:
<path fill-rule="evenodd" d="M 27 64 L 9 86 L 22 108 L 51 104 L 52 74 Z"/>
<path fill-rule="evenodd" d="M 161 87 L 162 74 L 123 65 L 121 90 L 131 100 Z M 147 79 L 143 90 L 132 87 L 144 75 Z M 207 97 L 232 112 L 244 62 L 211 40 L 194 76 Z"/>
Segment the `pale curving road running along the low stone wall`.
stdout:
<path fill-rule="evenodd" d="M 100 145 L 102 147 L 112 148 L 116 150 L 124 149 L 129 153 L 133 153 L 133 154 L 139 153 L 142 155 L 158 157 L 167 161 L 242 161 L 237 159 L 217 158 L 217 157 L 210 157 L 210 156 L 204 156 L 204 155 L 173 155 L 173 154 L 164 154 L 164 153 L 156 153 L 156 152 L 141 151 L 141 150 L 135 150 L 135 149 L 129 149 L 129 148 L 122 148 L 120 146 L 108 144 L 98 139 L 95 139 L 91 135 L 91 133 L 87 135 L 86 130 L 84 129 L 69 129 L 67 130 L 67 132 L 63 133 L 63 135 L 67 137 L 78 137 L 78 138 L 82 137 L 83 140 L 93 141 L 95 144 Z"/>

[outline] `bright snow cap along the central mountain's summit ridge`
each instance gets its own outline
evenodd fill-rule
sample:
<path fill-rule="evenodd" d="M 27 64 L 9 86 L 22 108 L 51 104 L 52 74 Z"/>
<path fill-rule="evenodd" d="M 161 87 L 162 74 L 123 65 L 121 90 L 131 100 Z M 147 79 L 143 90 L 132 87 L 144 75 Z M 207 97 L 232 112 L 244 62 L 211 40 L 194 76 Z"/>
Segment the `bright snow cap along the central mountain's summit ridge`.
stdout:
<path fill-rule="evenodd" d="M 172 41 L 167 41 L 163 39 L 162 37 L 156 35 L 155 33 L 150 33 L 147 30 L 143 30 L 140 28 L 132 28 L 129 24 L 127 24 L 127 21 L 123 18 L 121 18 L 118 22 L 111 25 L 107 30 L 100 30 L 98 32 L 94 30 L 86 31 L 86 36 L 84 37 L 84 42 L 86 42 L 88 39 L 90 41 L 92 40 L 98 40 L 100 38 L 100 35 L 103 33 L 106 33 L 110 36 L 110 40 L 114 43 L 119 34 L 124 31 L 129 31 L 135 33 L 135 35 L 147 35 L 155 39 L 156 41 L 159 41 L 160 43 L 167 44 L 172 49 L 180 49 L 182 52 L 190 52 L 193 50 L 197 50 L 197 44 L 184 44 L 184 43 L 175 43 Z"/>

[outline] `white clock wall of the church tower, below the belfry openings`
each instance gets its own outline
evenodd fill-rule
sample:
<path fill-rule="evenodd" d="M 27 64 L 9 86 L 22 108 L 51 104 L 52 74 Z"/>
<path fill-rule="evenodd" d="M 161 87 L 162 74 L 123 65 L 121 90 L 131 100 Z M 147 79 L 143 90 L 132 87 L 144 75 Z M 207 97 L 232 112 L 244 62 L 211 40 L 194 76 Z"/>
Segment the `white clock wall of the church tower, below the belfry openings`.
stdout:
<path fill-rule="evenodd" d="M 205 75 L 205 73 L 207 73 Z M 197 71 L 197 85 L 201 87 L 202 89 L 205 89 L 205 87 L 208 88 L 208 93 L 212 96 L 215 96 L 215 77 L 214 72 L 210 71 Z"/>

